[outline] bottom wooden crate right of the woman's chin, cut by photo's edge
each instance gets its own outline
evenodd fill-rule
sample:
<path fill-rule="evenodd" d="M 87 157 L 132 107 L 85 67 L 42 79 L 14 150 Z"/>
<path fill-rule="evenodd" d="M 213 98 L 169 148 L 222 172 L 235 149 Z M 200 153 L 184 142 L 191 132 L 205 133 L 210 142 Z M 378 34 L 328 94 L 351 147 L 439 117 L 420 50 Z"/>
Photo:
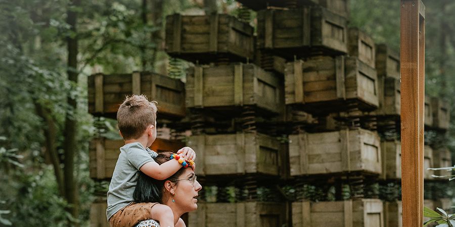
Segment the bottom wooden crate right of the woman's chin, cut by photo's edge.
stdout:
<path fill-rule="evenodd" d="M 286 224 L 286 203 L 198 203 L 188 213 L 189 227 L 281 227 Z"/>

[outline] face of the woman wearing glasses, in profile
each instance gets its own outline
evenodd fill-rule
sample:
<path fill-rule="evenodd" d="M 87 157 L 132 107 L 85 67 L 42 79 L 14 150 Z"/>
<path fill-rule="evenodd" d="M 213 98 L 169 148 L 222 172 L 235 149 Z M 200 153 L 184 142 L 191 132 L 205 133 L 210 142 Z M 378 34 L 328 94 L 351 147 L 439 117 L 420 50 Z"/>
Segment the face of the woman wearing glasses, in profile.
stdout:
<path fill-rule="evenodd" d="M 175 205 L 186 212 L 196 210 L 198 208 L 196 197 L 199 195 L 201 189 L 202 186 L 196 180 L 193 169 L 191 167 L 186 168 L 176 182 L 173 197 Z"/>

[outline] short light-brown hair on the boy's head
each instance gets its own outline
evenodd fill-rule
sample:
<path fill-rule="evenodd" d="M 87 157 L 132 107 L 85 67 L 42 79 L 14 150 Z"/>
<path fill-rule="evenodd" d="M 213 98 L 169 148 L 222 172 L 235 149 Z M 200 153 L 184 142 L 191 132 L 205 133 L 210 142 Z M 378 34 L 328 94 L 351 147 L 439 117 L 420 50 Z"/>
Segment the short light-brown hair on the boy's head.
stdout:
<path fill-rule="evenodd" d="M 147 127 L 155 125 L 156 101 L 149 101 L 145 95 L 127 96 L 117 111 L 118 129 L 123 139 L 138 139 Z"/>

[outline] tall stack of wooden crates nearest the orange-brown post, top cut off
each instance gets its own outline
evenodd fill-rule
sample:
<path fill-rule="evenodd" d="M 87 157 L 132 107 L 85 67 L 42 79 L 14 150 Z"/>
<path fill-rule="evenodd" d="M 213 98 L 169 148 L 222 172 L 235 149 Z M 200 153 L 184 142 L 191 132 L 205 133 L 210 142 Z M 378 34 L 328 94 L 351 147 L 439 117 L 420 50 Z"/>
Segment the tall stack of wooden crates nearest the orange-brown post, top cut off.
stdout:
<path fill-rule="evenodd" d="M 342 112 L 351 117 L 377 110 L 380 105 L 376 47 L 367 34 L 347 28 L 347 1 L 239 2 L 258 11 L 257 48 L 287 61 L 286 109 L 292 113 L 305 111 L 324 121 L 317 127 L 288 128 L 289 171 L 296 190 L 309 181 L 367 184 L 371 180 L 366 179 L 379 177 L 382 155 L 377 132 L 352 127 L 351 119 L 341 119 Z M 292 117 L 288 119 L 296 119 Z M 341 190 L 340 185 L 337 190 Z M 362 198 L 362 193 L 346 201 L 297 199 L 292 203 L 290 224 L 326 226 L 327 222 L 319 222 L 324 212 L 339 212 L 340 218 L 329 225 L 384 226 L 382 202 Z M 342 198 L 337 195 L 336 199 Z M 354 209 L 352 204 L 356 204 Z M 374 215 L 366 215 L 369 212 Z"/>

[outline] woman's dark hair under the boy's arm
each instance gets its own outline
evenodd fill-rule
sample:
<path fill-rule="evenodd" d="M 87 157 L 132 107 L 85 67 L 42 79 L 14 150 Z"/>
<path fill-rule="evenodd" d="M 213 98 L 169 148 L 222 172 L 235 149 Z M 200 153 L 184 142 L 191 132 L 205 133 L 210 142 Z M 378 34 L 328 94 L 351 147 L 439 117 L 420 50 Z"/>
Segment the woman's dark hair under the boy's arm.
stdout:
<path fill-rule="evenodd" d="M 155 158 L 155 161 L 158 164 L 162 164 L 170 160 L 170 156 L 173 154 L 171 151 L 160 152 Z M 164 182 L 175 180 L 183 174 L 185 168 L 180 168 L 178 171 L 165 180 L 156 180 L 146 174 L 138 171 L 138 182 L 136 183 L 136 188 L 134 189 L 133 199 L 136 203 L 162 203 L 162 196 L 164 190 Z"/>

